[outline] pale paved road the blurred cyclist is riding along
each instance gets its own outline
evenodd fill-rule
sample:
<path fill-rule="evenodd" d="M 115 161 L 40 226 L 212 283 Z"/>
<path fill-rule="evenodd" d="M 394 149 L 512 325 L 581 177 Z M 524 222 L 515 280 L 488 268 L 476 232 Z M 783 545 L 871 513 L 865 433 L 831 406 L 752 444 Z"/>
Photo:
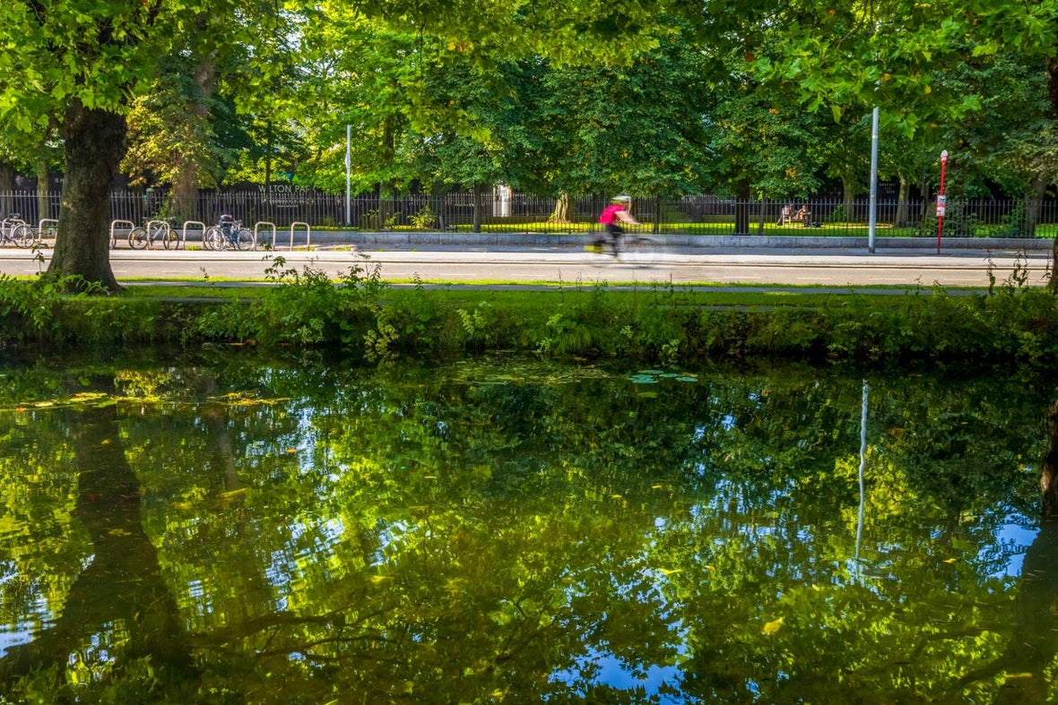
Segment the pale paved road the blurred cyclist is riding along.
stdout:
<path fill-rule="evenodd" d="M 34 275 L 47 266 L 28 251 L 0 248 L 0 274 Z M 286 267 L 312 267 L 342 276 L 352 266 L 379 267 L 383 279 L 426 282 L 548 282 L 564 284 L 770 284 L 856 287 L 987 286 L 989 270 L 997 283 L 1024 275 L 1027 283 L 1045 283 L 1050 252 L 878 249 L 871 254 L 826 248 L 730 249 L 639 247 L 615 260 L 570 246 L 386 246 L 215 253 L 206 251 L 111 251 L 118 281 L 199 280 L 254 281 L 282 257 Z"/>

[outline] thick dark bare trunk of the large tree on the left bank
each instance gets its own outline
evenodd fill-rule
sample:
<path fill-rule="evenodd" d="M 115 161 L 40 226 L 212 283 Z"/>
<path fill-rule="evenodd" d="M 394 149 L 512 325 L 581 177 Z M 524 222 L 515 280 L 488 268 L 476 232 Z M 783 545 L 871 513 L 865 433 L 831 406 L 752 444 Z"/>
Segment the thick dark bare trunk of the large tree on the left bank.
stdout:
<path fill-rule="evenodd" d="M 62 138 L 61 217 L 47 276 L 83 277 L 117 291 L 110 268 L 110 188 L 125 154 L 125 118 L 74 101 L 67 110 Z"/>

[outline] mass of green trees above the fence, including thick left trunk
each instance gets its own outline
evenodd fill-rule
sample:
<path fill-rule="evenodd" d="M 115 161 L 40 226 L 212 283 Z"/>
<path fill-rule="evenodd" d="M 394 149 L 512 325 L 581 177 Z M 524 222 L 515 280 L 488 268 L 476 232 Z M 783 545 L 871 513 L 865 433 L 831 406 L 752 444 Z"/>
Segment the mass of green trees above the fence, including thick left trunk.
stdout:
<path fill-rule="evenodd" d="M 232 180 L 341 190 L 347 126 L 364 189 L 850 192 L 863 160 L 833 147 L 874 107 L 893 178 L 943 145 L 953 192 L 1054 181 L 1058 0 L 17 0 L 0 27 L 0 117 L 36 135 L 0 153 L 63 145 L 50 272 L 108 286 L 118 171 L 174 211 Z"/>

